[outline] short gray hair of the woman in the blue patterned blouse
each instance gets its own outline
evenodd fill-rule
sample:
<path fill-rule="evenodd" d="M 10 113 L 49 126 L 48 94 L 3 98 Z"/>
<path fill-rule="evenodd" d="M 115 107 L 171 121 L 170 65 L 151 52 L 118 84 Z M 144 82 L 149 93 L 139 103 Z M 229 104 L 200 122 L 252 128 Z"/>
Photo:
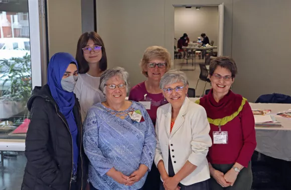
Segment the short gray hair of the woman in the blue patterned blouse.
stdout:
<path fill-rule="evenodd" d="M 129 88 L 129 83 L 128 83 L 128 72 L 125 71 L 124 68 L 122 67 L 114 67 L 105 70 L 101 76 L 100 76 L 100 84 L 99 84 L 99 89 L 105 94 L 105 85 L 109 78 L 114 77 L 114 76 L 119 76 L 120 79 L 123 79 L 126 84 L 126 92 L 128 92 Z"/>

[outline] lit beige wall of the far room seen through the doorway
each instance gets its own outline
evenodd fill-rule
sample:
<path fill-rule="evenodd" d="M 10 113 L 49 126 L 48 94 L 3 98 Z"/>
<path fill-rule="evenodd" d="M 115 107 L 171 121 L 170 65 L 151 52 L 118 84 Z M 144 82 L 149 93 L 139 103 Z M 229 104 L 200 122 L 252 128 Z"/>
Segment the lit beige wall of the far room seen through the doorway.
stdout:
<path fill-rule="evenodd" d="M 197 10 L 192 8 L 175 7 L 175 38 L 178 40 L 187 33 L 191 41 L 197 40 L 201 33 L 206 33 L 209 40 L 218 41 L 218 6 L 202 6 Z"/>

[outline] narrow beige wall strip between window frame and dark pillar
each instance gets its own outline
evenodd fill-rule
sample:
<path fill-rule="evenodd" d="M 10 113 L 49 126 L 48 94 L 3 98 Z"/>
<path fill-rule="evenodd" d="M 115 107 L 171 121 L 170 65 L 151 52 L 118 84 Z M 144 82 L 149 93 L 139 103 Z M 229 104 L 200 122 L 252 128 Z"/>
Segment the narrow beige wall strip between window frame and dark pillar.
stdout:
<path fill-rule="evenodd" d="M 76 55 L 82 34 L 81 0 L 48 0 L 49 57 L 65 51 Z"/>

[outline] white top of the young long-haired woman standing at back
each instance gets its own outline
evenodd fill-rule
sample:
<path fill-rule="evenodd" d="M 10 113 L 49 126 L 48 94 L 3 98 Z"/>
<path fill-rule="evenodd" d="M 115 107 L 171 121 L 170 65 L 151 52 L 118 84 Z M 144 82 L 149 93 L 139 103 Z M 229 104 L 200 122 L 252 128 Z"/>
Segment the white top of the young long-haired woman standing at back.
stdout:
<path fill-rule="evenodd" d="M 74 93 L 81 106 L 81 118 L 84 122 L 87 111 L 92 105 L 105 101 L 104 94 L 99 90 L 100 77 L 91 76 L 88 73 L 79 74 Z"/>

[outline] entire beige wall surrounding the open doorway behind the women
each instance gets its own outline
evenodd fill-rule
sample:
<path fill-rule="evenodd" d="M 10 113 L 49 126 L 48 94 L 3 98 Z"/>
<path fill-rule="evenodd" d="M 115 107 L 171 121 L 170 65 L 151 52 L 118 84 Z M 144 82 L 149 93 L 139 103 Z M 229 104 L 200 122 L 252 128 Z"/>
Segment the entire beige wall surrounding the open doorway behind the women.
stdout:
<path fill-rule="evenodd" d="M 290 95 L 289 0 L 97 0 L 97 28 L 109 67 L 125 67 L 131 85 L 144 80 L 138 62 L 146 47 L 155 44 L 174 51 L 173 4 L 222 2 L 223 54 L 233 56 L 239 71 L 233 90 L 249 101 L 264 93 Z"/>

